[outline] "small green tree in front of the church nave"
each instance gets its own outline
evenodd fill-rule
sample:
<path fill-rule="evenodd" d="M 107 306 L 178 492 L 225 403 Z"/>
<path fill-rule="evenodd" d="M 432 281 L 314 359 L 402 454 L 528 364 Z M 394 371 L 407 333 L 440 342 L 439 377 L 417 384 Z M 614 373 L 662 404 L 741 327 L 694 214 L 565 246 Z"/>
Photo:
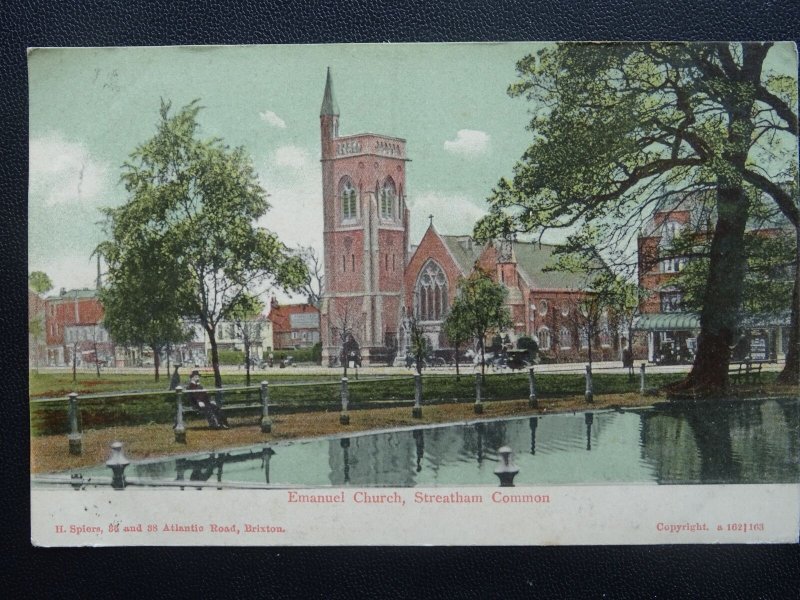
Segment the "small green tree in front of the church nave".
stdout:
<path fill-rule="evenodd" d="M 458 297 L 463 302 L 464 327 L 478 340 L 481 350 L 481 374 L 486 370 L 486 336 L 511 326 L 511 315 L 505 306 L 508 291 L 492 281 L 489 274 L 476 267 L 458 283 Z"/>

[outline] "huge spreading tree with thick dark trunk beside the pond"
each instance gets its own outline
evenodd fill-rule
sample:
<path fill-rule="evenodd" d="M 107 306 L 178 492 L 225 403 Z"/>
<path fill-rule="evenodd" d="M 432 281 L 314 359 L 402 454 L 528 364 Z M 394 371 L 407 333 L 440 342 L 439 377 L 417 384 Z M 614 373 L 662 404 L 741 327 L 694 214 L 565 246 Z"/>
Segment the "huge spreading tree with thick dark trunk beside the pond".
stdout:
<path fill-rule="evenodd" d="M 745 184 L 800 225 L 796 197 L 779 185 L 797 160 L 797 84 L 765 69 L 772 46 L 564 44 L 524 57 L 509 92 L 535 103 L 533 143 L 476 226 L 479 239 L 569 228 L 568 246 L 591 244 L 613 264 L 665 198 L 713 190 L 701 334 L 685 382 L 709 395 L 725 389 L 738 326 Z M 796 325 L 793 313 L 794 340 Z"/>

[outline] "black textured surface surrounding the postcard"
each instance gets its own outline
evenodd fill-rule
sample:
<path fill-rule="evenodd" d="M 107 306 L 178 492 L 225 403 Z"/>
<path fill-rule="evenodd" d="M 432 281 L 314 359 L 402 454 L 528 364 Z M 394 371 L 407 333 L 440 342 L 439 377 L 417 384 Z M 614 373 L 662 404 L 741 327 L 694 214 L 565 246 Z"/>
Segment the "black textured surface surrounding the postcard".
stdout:
<path fill-rule="evenodd" d="M 30 46 L 492 40 L 797 40 L 794 0 L 0 5 L 0 548 L 7 597 L 797 597 L 794 546 L 122 548 L 30 544 L 25 311 Z M 53 102 L 58 102 L 57 98 Z M 622 500 L 622 499 L 621 499 Z M 621 501 L 621 511 L 636 510 Z M 769 507 L 765 507 L 769 510 Z M 564 515 L 569 519 L 570 515 Z M 470 523 L 465 522 L 464 527 Z M 26 593 L 27 592 L 27 593 Z"/>

